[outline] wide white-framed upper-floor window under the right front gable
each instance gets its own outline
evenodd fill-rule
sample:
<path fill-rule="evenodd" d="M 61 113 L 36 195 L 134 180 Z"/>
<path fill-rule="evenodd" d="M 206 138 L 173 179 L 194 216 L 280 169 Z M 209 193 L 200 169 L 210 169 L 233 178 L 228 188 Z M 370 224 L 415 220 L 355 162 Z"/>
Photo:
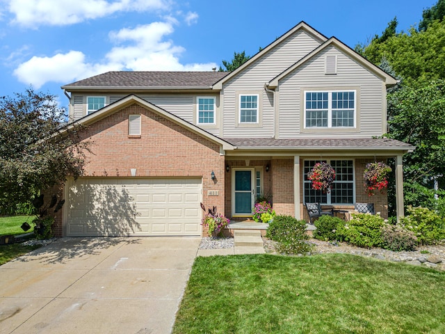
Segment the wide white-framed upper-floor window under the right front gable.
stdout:
<path fill-rule="evenodd" d="M 306 91 L 305 127 L 355 127 L 356 91 Z"/>

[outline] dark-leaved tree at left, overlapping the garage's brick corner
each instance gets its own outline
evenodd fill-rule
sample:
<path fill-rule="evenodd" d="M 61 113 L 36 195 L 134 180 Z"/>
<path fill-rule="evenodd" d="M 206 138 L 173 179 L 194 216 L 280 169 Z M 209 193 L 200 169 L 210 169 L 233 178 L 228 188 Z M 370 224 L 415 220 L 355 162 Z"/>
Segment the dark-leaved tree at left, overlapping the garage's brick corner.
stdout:
<path fill-rule="evenodd" d="M 79 177 L 90 143 L 81 127 L 68 127 L 53 95 L 31 88 L 0 99 L 0 214 L 65 181 Z"/>

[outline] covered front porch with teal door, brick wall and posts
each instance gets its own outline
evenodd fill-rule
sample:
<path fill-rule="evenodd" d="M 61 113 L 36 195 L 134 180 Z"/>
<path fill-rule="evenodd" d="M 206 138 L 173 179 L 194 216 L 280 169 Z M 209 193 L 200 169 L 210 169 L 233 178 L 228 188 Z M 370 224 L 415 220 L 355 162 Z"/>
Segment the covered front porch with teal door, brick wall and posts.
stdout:
<path fill-rule="evenodd" d="M 264 199 L 273 204 L 277 214 L 295 216 L 307 222 L 309 215 L 305 202 L 320 202 L 323 208 L 346 212 L 343 216 L 355 211 L 356 202 L 372 202 L 375 212 L 388 218 L 387 193 L 370 197 L 362 177 L 367 163 L 376 159 L 387 161 L 388 156 L 344 157 L 344 154 L 339 154 L 322 159 L 310 155 L 261 158 L 226 157 L 225 216 L 235 222 L 231 224 L 234 228 L 229 230 L 230 235 L 233 235 L 233 230 L 249 225 L 261 230 L 259 223 L 248 219 L 252 219 L 254 203 Z M 312 164 L 321 160 L 334 165 L 337 172 L 332 191 L 327 194 L 314 191 L 307 179 Z M 403 216 L 401 156 L 396 156 L 396 203 L 398 217 Z M 341 214 L 337 215 L 342 218 Z"/>

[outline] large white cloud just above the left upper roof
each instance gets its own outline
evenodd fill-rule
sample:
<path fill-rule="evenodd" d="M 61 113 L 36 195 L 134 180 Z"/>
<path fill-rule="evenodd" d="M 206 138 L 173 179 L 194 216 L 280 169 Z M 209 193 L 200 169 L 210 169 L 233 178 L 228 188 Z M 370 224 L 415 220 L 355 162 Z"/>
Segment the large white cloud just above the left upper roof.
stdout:
<path fill-rule="evenodd" d="M 20 64 L 14 75 L 24 84 L 40 88 L 49 81 L 67 84 L 107 71 L 210 71 L 217 67 L 216 63 L 181 64 L 179 56 L 185 51 L 184 47 L 165 40 L 165 36 L 174 31 L 173 24 L 174 21 L 169 20 L 112 31 L 109 38 L 115 47 L 97 63 L 87 63 L 81 51 L 52 57 L 33 56 Z"/>

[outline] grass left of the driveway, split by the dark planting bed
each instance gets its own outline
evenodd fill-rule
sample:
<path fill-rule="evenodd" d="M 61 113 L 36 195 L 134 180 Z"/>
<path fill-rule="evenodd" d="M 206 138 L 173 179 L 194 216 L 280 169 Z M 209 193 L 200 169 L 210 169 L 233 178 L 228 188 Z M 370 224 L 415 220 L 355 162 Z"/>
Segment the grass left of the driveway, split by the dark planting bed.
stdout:
<path fill-rule="evenodd" d="M 0 236 L 2 235 L 18 235 L 24 234 L 24 230 L 20 228 L 20 225 L 25 221 L 28 221 L 31 225 L 33 216 L 11 216 L 11 217 L 0 217 Z M 31 230 L 32 231 L 32 228 Z M 41 246 L 24 246 L 22 244 L 8 244 L 0 246 L 0 265 L 4 264 L 10 260 L 15 259 L 26 253 L 31 252 L 36 248 Z"/>

